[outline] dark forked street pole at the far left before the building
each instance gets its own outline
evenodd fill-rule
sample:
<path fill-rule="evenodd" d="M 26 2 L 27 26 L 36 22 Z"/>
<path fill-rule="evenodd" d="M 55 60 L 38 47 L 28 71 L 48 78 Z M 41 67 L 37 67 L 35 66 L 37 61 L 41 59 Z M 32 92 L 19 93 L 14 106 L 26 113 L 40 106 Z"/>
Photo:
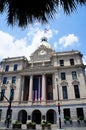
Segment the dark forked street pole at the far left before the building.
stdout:
<path fill-rule="evenodd" d="M 13 90 L 13 88 L 12 88 Z M 4 97 L 9 105 L 8 105 L 8 109 L 7 109 L 7 115 L 6 115 L 6 125 L 7 125 L 7 128 L 9 128 L 9 125 L 10 125 L 10 120 L 11 120 L 11 103 L 12 103 L 12 99 L 13 99 L 13 91 L 11 91 L 11 95 L 10 95 L 10 98 L 8 99 L 3 93 L 2 91 L 0 92 L 0 100 L 1 100 L 1 97 Z"/>

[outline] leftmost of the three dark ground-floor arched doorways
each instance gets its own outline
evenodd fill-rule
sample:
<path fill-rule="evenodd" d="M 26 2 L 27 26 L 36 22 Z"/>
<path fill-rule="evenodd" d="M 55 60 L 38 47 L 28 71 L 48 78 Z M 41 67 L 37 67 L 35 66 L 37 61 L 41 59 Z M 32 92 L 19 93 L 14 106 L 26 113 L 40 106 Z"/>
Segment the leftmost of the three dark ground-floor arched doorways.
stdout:
<path fill-rule="evenodd" d="M 18 121 L 21 121 L 22 124 L 26 124 L 27 112 L 25 110 L 19 111 L 19 113 L 18 113 Z"/>

